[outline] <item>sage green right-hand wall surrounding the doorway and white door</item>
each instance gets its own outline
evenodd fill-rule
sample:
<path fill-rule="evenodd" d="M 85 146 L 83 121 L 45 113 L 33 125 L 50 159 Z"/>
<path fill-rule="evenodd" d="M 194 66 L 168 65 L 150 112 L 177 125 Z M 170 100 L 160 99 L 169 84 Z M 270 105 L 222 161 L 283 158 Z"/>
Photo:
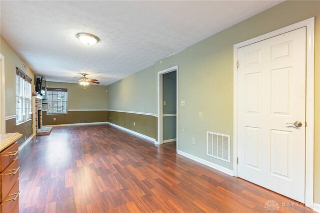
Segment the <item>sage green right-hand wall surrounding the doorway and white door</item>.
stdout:
<path fill-rule="evenodd" d="M 233 45 L 315 16 L 314 201 L 320 204 L 320 1 L 285 1 L 108 86 L 108 108 L 157 113 L 157 72 L 178 65 L 178 150 L 232 170 L 206 156 L 206 131 L 230 135 L 233 155 Z M 160 63 L 161 62 L 161 63 Z M 198 112 L 203 118 L 198 118 Z M 192 145 L 195 138 L 195 145 Z"/>

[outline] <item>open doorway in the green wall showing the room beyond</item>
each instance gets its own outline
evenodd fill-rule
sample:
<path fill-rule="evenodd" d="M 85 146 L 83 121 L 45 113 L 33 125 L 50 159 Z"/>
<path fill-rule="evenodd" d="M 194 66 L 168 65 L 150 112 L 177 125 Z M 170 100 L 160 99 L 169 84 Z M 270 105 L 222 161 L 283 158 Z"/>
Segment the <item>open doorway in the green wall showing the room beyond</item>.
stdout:
<path fill-rule="evenodd" d="M 178 119 L 177 66 L 158 72 L 158 139 L 157 144 L 177 151 Z"/>

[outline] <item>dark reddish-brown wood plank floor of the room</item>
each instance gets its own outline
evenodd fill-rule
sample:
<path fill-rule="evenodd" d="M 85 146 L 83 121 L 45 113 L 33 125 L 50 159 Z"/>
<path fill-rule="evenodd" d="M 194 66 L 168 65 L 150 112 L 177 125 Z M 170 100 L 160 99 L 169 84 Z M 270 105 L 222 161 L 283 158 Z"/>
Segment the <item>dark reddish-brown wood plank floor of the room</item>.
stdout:
<path fill-rule="evenodd" d="M 271 212 L 310 209 L 108 125 L 54 127 L 19 154 L 20 212 Z"/>

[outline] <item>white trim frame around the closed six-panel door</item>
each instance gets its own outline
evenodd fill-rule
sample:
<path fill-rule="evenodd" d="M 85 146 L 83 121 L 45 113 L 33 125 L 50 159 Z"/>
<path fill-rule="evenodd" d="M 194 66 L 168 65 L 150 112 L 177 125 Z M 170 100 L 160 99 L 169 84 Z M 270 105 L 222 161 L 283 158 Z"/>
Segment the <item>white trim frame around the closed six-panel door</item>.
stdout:
<path fill-rule="evenodd" d="M 305 128 L 305 206 L 313 208 L 313 146 L 314 146 L 314 17 L 233 45 L 233 176 L 237 177 L 237 63 L 238 48 L 282 33 L 306 27 L 306 122 Z M 240 64 L 241 66 L 241 64 Z"/>

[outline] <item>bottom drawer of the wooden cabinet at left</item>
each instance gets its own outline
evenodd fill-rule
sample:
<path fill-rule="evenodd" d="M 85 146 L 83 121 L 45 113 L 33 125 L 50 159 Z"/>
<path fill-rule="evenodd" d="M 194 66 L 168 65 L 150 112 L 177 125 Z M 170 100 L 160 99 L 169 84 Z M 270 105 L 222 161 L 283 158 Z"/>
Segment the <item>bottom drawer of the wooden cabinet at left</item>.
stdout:
<path fill-rule="evenodd" d="M 14 207 L 19 206 L 19 194 L 19 183 L 17 181 L 0 205 L 0 213 L 12 213 Z"/>

